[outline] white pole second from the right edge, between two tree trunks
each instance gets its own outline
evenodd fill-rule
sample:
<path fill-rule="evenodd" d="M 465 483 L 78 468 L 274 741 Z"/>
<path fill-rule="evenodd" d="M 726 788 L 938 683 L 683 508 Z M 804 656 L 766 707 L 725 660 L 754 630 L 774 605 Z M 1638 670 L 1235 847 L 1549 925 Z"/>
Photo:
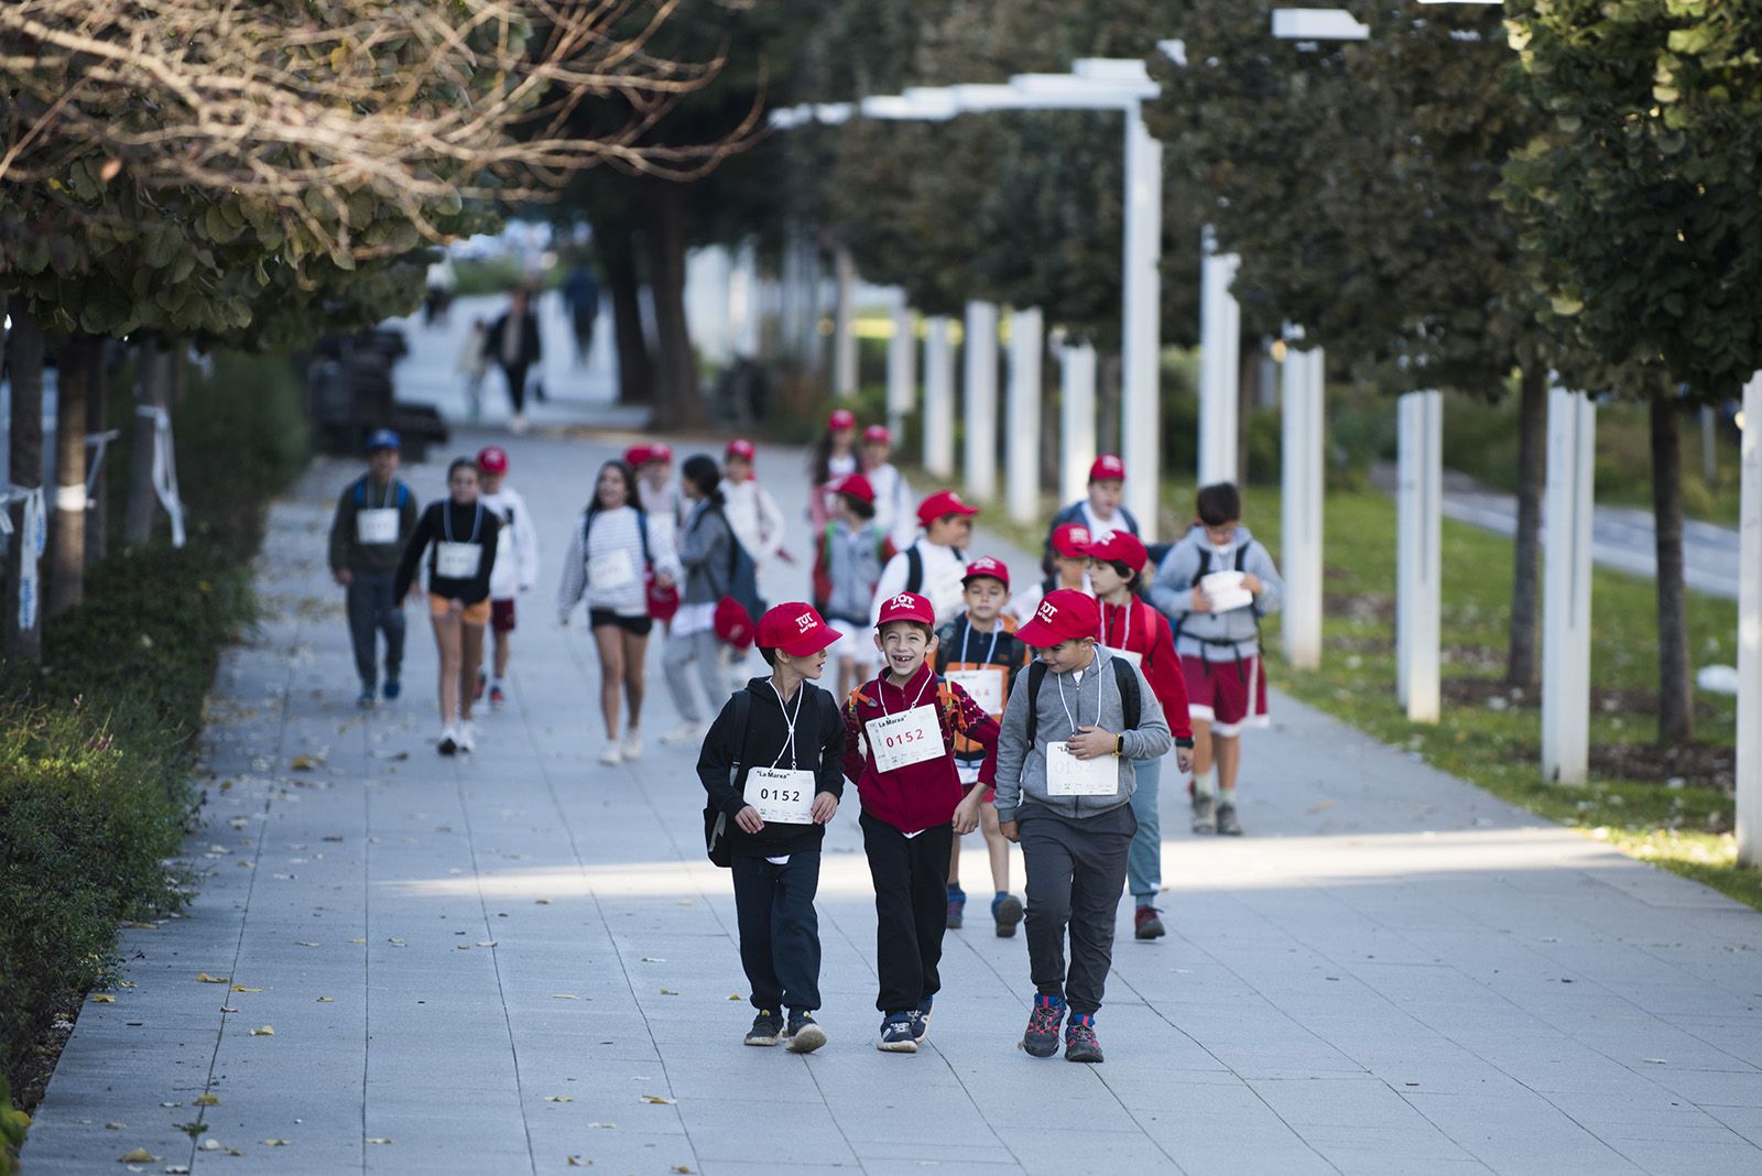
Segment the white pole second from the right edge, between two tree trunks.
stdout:
<path fill-rule="evenodd" d="M 1547 530 L 1542 567 L 1542 778 L 1584 783 L 1591 766 L 1591 475 L 1596 405 L 1547 394 Z"/>

